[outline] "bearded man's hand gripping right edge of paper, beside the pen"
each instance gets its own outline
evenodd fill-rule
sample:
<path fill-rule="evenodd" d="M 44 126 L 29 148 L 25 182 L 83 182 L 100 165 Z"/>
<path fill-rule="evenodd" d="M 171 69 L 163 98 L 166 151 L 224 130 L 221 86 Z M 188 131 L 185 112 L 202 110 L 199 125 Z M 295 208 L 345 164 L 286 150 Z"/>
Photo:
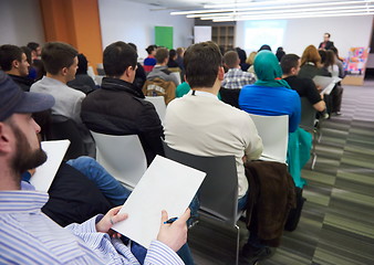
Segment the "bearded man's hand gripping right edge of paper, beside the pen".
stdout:
<path fill-rule="evenodd" d="M 168 220 L 167 212 L 163 211 L 162 226 L 159 229 L 157 240 L 173 251 L 177 252 L 187 242 L 187 220 L 189 219 L 189 209 L 172 224 L 164 224 Z"/>

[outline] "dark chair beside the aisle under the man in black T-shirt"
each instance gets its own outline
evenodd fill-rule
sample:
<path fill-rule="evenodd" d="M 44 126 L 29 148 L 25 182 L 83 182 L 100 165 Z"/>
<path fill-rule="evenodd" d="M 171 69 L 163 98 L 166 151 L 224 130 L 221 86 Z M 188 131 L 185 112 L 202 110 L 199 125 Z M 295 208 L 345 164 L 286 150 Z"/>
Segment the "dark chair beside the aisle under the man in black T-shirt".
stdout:
<path fill-rule="evenodd" d="M 300 127 L 309 131 L 313 136 L 313 147 L 312 147 L 312 163 L 311 169 L 314 169 L 316 161 L 315 145 L 320 136 L 320 121 L 315 120 L 316 110 L 313 105 L 309 102 L 307 97 L 301 97 L 301 121 Z"/>

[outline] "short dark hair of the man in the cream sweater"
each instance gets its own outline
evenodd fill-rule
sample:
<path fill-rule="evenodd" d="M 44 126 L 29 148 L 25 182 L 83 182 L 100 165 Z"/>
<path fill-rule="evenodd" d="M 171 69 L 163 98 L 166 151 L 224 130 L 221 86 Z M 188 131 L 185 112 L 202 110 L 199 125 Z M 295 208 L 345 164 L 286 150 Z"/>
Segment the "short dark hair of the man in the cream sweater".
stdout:
<path fill-rule="evenodd" d="M 222 65 L 222 54 L 215 42 L 201 42 L 186 50 L 184 63 L 190 87 L 212 87 Z"/>

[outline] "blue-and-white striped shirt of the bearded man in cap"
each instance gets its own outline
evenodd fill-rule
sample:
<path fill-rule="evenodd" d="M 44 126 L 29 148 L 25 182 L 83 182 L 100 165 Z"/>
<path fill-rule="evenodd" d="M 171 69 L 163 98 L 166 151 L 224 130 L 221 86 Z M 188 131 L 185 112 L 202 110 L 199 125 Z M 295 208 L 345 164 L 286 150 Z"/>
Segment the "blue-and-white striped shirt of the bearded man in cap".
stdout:
<path fill-rule="evenodd" d="M 62 229 L 41 208 L 49 197 L 37 191 L 0 191 L 0 264 L 139 264 L 121 240 L 96 232 L 103 215 Z M 144 264 L 184 264 L 154 241 Z"/>

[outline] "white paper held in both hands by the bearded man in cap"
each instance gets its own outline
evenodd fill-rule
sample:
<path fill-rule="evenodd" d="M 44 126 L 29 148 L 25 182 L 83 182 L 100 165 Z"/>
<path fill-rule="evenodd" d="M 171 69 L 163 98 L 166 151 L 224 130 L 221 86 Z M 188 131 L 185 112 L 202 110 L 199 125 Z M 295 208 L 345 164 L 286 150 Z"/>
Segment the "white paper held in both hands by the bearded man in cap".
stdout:
<path fill-rule="evenodd" d="M 128 218 L 113 230 L 148 248 L 157 237 L 162 210 L 180 216 L 199 189 L 206 173 L 156 156 L 121 209 Z"/>

